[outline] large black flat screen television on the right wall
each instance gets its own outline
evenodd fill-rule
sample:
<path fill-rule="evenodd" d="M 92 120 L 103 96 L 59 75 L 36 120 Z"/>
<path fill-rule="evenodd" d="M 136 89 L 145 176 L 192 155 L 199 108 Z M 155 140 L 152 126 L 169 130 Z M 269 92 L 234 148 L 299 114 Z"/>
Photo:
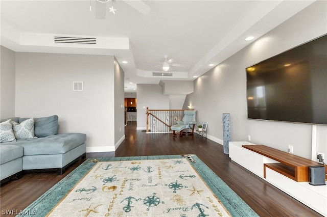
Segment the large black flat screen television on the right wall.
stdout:
<path fill-rule="evenodd" d="M 327 125 L 327 35 L 246 68 L 248 119 Z"/>

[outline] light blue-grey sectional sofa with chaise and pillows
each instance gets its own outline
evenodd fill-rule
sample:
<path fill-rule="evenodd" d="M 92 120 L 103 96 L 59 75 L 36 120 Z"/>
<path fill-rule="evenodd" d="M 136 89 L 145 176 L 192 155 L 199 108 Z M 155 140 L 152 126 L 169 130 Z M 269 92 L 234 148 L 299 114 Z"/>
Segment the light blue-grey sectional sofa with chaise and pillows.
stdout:
<path fill-rule="evenodd" d="M 56 171 L 62 174 L 86 155 L 86 134 L 58 134 L 57 115 L 8 120 L 0 121 L 1 183 L 20 178 L 27 172 Z"/>

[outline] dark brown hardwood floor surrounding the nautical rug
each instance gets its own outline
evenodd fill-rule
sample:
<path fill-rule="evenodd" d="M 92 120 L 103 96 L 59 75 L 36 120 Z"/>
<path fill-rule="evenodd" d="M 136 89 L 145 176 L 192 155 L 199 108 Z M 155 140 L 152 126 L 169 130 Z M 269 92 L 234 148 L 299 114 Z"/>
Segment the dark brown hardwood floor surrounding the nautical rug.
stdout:
<path fill-rule="evenodd" d="M 136 122 L 129 122 L 125 135 L 126 139 L 115 152 L 87 153 L 86 158 L 196 154 L 260 216 L 322 216 L 231 161 L 223 153 L 223 146 L 209 139 L 196 135 L 173 138 L 171 133 L 147 134 L 136 130 Z M 30 173 L 19 180 L 4 183 L 0 188 L 0 215 L 4 215 L 6 210 L 19 212 L 26 208 L 84 160 L 76 162 L 63 175 Z"/>

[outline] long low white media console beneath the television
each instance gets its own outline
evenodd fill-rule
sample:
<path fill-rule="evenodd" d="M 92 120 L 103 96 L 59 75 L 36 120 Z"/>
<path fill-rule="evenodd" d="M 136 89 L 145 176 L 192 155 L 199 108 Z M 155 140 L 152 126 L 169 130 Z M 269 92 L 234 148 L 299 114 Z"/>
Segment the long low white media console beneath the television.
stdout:
<path fill-rule="evenodd" d="M 255 144 L 229 142 L 229 157 L 231 160 L 318 213 L 327 216 L 327 185 L 313 186 L 307 181 L 297 182 L 293 180 L 293 177 L 287 177 L 287 174 L 285 175 L 283 172 L 268 167 L 268 165 L 280 163 L 279 161 L 244 148 L 243 145 Z"/>

